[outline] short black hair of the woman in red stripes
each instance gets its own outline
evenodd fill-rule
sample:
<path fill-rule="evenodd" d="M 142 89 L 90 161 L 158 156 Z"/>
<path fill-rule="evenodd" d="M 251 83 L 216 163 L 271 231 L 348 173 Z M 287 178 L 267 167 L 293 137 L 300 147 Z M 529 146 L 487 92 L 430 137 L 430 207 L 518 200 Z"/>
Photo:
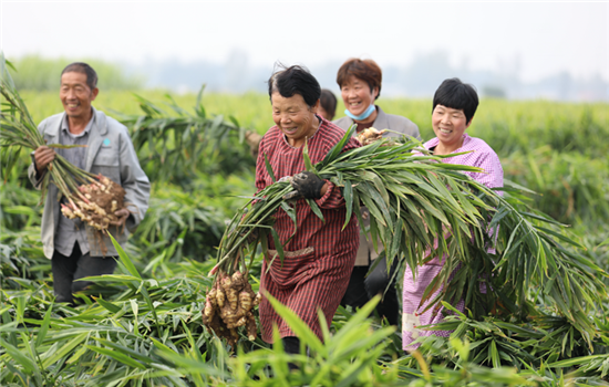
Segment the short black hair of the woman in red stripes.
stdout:
<path fill-rule="evenodd" d="M 280 70 L 276 71 L 268 80 L 269 98 L 275 92 L 279 92 L 285 98 L 300 94 L 307 106 L 313 107 L 321 96 L 321 86 L 309 70 L 299 65 L 286 67 L 280 63 L 276 64 L 277 67 Z"/>

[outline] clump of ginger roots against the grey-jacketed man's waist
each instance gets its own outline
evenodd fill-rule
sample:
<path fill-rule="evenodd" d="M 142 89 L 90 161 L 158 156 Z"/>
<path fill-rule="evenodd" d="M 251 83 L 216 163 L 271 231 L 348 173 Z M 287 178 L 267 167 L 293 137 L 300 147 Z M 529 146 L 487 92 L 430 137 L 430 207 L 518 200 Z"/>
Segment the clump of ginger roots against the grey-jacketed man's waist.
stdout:
<path fill-rule="evenodd" d="M 76 195 L 68 197 L 68 205 L 61 205 L 61 212 L 69 219 L 80 218 L 96 230 L 107 230 L 116 221 L 114 212 L 124 208 L 125 190 L 105 176 L 100 181 L 79 187 Z"/>

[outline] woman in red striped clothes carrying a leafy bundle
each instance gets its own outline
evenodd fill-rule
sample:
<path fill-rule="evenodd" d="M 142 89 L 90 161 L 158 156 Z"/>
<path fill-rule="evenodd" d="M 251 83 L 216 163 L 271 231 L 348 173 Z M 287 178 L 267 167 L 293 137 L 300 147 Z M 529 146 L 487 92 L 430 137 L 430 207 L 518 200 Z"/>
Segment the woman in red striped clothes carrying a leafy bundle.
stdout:
<path fill-rule="evenodd" d="M 260 323 L 262 339 L 272 343 L 276 325 L 288 353 L 299 353 L 300 343 L 290 326 L 275 312 L 266 294 L 272 295 L 295 311 L 322 338 L 318 310 L 328 324 L 347 290 L 358 250 L 358 222 L 351 218 L 344 229 L 347 208 L 341 190 L 329 180 L 306 171 L 303 149 L 311 163 L 323 159 L 340 142 L 344 132 L 317 114 L 321 88 L 318 81 L 301 66 L 282 67 L 268 81 L 272 105 L 272 126 L 260 142 L 256 165 L 258 192 L 273 184 L 265 159 L 277 179 L 288 179 L 298 192 L 290 206 L 296 206 L 297 227 L 290 216 L 279 209 L 275 213 L 275 230 L 282 244 L 283 261 L 278 257 L 273 238 L 268 237 L 268 254 L 260 279 Z M 359 147 L 349 139 L 343 151 Z M 286 198 L 289 199 L 289 198 Z M 313 200 L 323 221 L 306 199 Z M 341 230 L 342 229 L 342 230 Z"/>

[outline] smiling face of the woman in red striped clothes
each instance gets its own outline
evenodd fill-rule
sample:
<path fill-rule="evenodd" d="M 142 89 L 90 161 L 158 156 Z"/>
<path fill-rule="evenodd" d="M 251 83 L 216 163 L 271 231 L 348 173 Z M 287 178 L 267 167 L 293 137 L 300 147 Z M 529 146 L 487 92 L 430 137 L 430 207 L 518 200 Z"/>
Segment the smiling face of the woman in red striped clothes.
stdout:
<path fill-rule="evenodd" d="M 272 105 L 272 121 L 288 138 L 288 144 L 298 148 L 304 144 L 304 138 L 310 138 L 319 126 L 316 117 L 319 100 L 314 106 L 307 106 L 300 94 L 285 97 L 275 92 L 270 98 Z"/>

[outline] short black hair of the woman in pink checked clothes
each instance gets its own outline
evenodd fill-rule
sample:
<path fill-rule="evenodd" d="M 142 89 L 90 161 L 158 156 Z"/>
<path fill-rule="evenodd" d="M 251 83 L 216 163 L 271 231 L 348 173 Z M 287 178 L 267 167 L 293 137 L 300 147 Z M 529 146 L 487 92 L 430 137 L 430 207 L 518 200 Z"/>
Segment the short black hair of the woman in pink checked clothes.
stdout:
<path fill-rule="evenodd" d="M 469 124 L 478 107 L 478 93 L 474 86 L 461 82 L 457 77 L 444 80 L 433 96 L 432 113 L 437 105 L 463 111 Z"/>

